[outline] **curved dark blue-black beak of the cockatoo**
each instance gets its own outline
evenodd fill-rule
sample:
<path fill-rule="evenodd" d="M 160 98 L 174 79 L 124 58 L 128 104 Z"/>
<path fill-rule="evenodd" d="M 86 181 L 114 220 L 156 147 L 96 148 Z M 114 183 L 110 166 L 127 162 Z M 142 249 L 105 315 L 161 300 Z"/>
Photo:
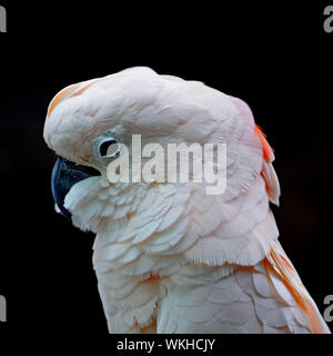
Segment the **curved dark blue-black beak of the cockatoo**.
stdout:
<path fill-rule="evenodd" d="M 64 197 L 74 184 L 92 176 L 100 176 L 100 172 L 58 156 L 52 170 L 51 189 L 56 204 L 68 219 L 71 220 L 71 214 L 63 206 Z"/>

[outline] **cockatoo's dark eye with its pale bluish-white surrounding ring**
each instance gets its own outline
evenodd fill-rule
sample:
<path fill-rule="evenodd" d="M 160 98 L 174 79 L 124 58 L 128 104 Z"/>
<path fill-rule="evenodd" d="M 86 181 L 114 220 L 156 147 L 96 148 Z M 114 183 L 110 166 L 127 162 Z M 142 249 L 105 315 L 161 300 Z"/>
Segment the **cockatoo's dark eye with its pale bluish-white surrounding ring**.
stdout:
<path fill-rule="evenodd" d="M 93 145 L 93 155 L 97 160 L 103 165 L 110 164 L 117 159 L 121 152 L 121 145 L 111 136 L 98 137 Z"/>

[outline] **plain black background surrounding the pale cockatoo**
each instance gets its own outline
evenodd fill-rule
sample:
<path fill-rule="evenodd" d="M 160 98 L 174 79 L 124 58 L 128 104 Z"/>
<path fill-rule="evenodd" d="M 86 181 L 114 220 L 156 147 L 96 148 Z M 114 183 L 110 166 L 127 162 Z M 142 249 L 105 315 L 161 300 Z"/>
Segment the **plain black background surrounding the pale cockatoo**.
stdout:
<path fill-rule="evenodd" d="M 333 294 L 329 3 L 71 3 L 1 1 L 0 295 L 8 327 L 107 333 L 93 235 L 53 210 L 54 155 L 42 130 L 60 89 L 132 66 L 201 80 L 250 105 L 275 150 L 280 240 L 323 313 Z"/>

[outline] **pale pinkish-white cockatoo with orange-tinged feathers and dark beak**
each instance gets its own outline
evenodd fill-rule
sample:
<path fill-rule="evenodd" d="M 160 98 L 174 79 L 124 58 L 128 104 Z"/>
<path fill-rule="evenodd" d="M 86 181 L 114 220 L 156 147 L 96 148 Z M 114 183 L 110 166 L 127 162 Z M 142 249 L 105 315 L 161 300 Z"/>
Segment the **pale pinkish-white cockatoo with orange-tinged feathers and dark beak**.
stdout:
<path fill-rule="evenodd" d="M 224 142 L 225 190 L 110 181 L 133 135 L 162 147 Z M 274 155 L 244 101 L 135 67 L 61 90 L 43 137 L 58 155 L 57 209 L 97 234 L 110 333 L 330 333 L 278 240 Z"/>

